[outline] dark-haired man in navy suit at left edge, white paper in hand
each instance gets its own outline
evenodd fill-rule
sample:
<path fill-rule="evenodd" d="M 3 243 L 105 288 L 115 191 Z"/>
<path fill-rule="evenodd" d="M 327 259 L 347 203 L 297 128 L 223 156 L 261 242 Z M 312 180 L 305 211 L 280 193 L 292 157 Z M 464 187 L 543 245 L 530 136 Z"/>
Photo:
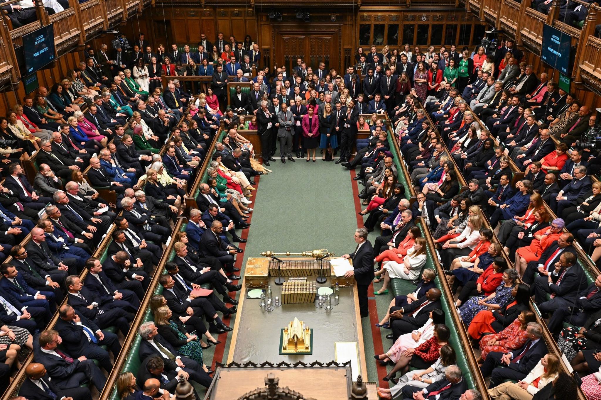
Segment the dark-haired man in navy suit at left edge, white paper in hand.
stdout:
<path fill-rule="evenodd" d="M 0 279 L 0 286 L 7 292 L 10 292 L 16 297 L 19 302 L 25 306 L 34 306 L 46 309 L 48 312 L 56 311 L 56 299 L 54 292 L 51 291 L 38 291 L 31 288 L 25 282 L 22 276 L 19 275 L 19 271 L 14 265 L 2 264 L 0 266 L 0 273 L 2 279 Z"/>

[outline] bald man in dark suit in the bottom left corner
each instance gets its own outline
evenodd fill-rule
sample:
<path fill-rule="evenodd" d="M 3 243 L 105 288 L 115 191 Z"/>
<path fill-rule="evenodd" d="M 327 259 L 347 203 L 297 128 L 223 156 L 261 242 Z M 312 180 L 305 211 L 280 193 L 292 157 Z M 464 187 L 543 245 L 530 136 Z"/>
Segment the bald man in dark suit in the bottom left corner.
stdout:
<path fill-rule="evenodd" d="M 41 363 L 31 363 L 25 368 L 27 378 L 21 384 L 19 395 L 28 400 L 88 400 L 91 398 L 87 387 L 60 389 L 50 381 L 46 368 Z"/>

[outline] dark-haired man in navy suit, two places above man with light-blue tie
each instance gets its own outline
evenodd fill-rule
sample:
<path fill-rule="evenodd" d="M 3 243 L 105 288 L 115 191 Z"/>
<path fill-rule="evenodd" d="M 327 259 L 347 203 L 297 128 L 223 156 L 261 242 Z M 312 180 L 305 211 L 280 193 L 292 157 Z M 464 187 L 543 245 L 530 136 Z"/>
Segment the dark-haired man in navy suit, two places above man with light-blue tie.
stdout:
<path fill-rule="evenodd" d="M 91 257 L 86 261 L 85 267 L 88 268 L 84 281 L 86 288 L 100 295 L 103 302 L 113 301 L 125 311 L 138 312 L 140 302 L 136 294 L 126 289 L 117 290 L 111 279 L 102 271 L 99 259 Z"/>

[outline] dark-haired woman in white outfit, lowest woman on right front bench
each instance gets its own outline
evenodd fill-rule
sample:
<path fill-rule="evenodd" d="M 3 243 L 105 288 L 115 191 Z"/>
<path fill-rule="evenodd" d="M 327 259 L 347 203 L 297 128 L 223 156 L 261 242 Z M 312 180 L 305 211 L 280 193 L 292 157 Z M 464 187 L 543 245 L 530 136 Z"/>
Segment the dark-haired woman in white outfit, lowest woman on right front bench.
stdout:
<path fill-rule="evenodd" d="M 398 378 L 398 383 L 392 386 L 390 389 L 385 387 L 378 387 L 377 392 L 382 399 L 400 399 L 403 393 L 403 387 L 409 385 L 419 388 L 425 388 L 428 385 L 435 383 L 436 381 L 445 378 L 445 371 L 450 365 L 454 365 L 457 362 L 457 356 L 455 350 L 450 345 L 444 345 L 441 347 L 441 356 L 438 360 L 428 369 L 416 369 L 415 371 L 409 371 L 402 377 Z"/>

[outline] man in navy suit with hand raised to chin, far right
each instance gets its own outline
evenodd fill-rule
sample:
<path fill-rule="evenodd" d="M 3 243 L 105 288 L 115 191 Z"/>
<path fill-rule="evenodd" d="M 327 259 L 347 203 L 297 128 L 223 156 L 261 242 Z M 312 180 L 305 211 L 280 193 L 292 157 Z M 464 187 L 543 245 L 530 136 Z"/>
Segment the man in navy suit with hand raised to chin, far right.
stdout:
<path fill-rule="evenodd" d="M 585 285 L 587 280 L 576 265 L 576 256 L 574 253 L 564 252 L 554 268 L 550 268 L 549 276 L 534 278 L 534 302 L 542 315 L 545 315 L 543 318 L 547 318 L 549 311 L 573 306 L 578 292 Z M 548 295 L 549 300 L 546 299 Z"/>

